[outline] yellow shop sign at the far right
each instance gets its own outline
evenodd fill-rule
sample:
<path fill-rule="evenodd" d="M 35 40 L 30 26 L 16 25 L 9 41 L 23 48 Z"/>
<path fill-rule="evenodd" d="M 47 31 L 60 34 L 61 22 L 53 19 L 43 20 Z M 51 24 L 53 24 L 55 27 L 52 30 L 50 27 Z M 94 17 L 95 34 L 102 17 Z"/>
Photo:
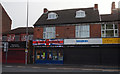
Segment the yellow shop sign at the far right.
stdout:
<path fill-rule="evenodd" d="M 102 38 L 103 44 L 120 44 L 120 38 Z"/>

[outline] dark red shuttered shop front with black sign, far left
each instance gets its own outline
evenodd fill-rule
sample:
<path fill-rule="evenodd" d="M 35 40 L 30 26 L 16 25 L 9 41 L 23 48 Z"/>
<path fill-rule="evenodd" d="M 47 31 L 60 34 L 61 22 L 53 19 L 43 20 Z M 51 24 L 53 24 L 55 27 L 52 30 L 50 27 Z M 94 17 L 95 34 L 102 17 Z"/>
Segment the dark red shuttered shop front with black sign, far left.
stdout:
<path fill-rule="evenodd" d="M 5 44 L 5 42 L 4 42 Z M 7 50 L 6 50 L 7 49 Z M 25 41 L 8 42 L 2 53 L 3 63 L 25 63 Z"/>

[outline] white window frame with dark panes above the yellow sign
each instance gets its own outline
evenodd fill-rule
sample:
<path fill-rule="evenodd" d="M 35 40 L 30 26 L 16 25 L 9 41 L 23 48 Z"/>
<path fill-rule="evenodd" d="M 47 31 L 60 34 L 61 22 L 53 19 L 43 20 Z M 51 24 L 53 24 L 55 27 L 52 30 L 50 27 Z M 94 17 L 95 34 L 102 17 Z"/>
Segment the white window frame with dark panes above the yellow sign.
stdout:
<path fill-rule="evenodd" d="M 102 25 L 104 25 L 104 29 L 102 29 Z M 107 37 L 106 35 L 106 31 L 110 31 L 110 30 L 113 30 L 114 32 L 114 36 L 109 36 L 109 37 L 118 37 L 119 36 L 119 30 L 118 30 L 118 24 L 112 24 L 113 25 L 113 29 L 107 29 L 106 25 L 109 25 L 109 24 L 102 24 L 101 25 L 101 37 Z M 115 29 L 115 25 L 117 25 L 117 29 Z M 115 31 L 117 31 L 117 36 L 115 36 Z M 102 32 L 104 32 L 104 34 L 102 34 Z"/>

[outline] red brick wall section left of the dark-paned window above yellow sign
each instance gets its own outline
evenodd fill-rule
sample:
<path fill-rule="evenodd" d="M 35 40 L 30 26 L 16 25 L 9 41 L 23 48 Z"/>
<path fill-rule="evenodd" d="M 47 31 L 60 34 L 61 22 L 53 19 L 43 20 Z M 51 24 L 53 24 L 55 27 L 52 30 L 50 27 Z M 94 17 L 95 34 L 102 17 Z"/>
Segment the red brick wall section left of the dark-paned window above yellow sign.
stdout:
<path fill-rule="evenodd" d="M 101 37 L 101 25 L 100 24 L 90 24 L 90 37 L 91 38 Z"/>

